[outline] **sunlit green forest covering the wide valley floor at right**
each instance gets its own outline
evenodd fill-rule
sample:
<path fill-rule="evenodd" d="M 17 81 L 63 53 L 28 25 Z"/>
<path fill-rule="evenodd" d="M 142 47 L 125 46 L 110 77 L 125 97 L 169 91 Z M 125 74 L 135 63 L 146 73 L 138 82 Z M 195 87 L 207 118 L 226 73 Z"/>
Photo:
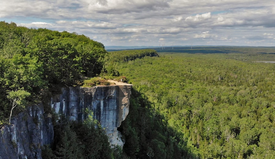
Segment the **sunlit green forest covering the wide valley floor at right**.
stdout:
<path fill-rule="evenodd" d="M 274 158 L 275 65 L 255 61 L 275 61 L 265 52 L 275 50 L 214 49 L 121 62 L 119 72 L 148 99 L 153 117 L 163 116 L 174 131 L 175 143 L 185 150 L 182 158 Z M 152 152 L 168 158 L 160 150 L 167 149 Z"/>

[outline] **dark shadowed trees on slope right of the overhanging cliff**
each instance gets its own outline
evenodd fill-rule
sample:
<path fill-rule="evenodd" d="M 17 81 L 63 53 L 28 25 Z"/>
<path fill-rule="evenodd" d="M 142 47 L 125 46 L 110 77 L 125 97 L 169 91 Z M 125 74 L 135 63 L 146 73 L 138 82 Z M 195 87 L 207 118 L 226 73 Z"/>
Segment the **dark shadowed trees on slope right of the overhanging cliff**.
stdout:
<path fill-rule="evenodd" d="M 130 158 L 195 158 L 164 116 L 145 94 L 131 90 L 129 114 L 118 128 L 124 135 L 124 154 Z"/>

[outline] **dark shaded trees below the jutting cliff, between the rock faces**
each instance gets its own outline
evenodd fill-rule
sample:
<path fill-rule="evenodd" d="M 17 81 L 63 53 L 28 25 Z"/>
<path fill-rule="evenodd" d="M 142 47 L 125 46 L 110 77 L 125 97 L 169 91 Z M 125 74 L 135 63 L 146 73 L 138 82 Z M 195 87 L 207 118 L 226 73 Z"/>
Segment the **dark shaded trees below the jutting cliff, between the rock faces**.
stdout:
<path fill-rule="evenodd" d="M 121 154 L 111 149 L 104 130 L 93 120 L 92 114 L 84 123 L 61 122 L 54 126 L 55 138 L 52 149 L 45 146 L 43 159 L 112 159 Z"/>

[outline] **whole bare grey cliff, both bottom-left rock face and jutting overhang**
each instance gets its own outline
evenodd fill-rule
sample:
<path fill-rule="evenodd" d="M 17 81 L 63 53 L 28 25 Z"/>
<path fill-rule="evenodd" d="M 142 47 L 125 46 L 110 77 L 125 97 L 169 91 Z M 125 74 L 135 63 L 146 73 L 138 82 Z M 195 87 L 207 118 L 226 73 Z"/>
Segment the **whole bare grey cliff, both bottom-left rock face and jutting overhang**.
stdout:
<path fill-rule="evenodd" d="M 50 104 L 56 113 L 68 120 L 83 122 L 91 110 L 94 119 L 105 128 L 111 145 L 123 146 L 117 128 L 129 113 L 130 84 L 97 87 L 66 87 L 53 96 Z M 43 105 L 29 107 L 12 118 L 11 124 L 1 128 L 0 159 L 41 158 L 41 147 L 53 142 L 51 114 L 45 114 Z"/>

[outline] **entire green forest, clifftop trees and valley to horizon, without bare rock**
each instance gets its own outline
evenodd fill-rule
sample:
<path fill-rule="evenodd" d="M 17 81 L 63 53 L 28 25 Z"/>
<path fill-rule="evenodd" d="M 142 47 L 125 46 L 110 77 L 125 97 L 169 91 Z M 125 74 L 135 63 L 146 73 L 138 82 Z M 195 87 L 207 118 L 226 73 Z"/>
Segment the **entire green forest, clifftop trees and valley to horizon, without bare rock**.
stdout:
<path fill-rule="evenodd" d="M 43 158 L 275 158 L 274 47 L 107 52 L 85 35 L 0 22 L 0 126 L 61 87 L 125 76 L 130 112 L 111 148 L 92 120 L 54 124 Z M 54 118 L 53 113 L 53 118 Z M 62 118 L 61 118 L 62 119 Z"/>

